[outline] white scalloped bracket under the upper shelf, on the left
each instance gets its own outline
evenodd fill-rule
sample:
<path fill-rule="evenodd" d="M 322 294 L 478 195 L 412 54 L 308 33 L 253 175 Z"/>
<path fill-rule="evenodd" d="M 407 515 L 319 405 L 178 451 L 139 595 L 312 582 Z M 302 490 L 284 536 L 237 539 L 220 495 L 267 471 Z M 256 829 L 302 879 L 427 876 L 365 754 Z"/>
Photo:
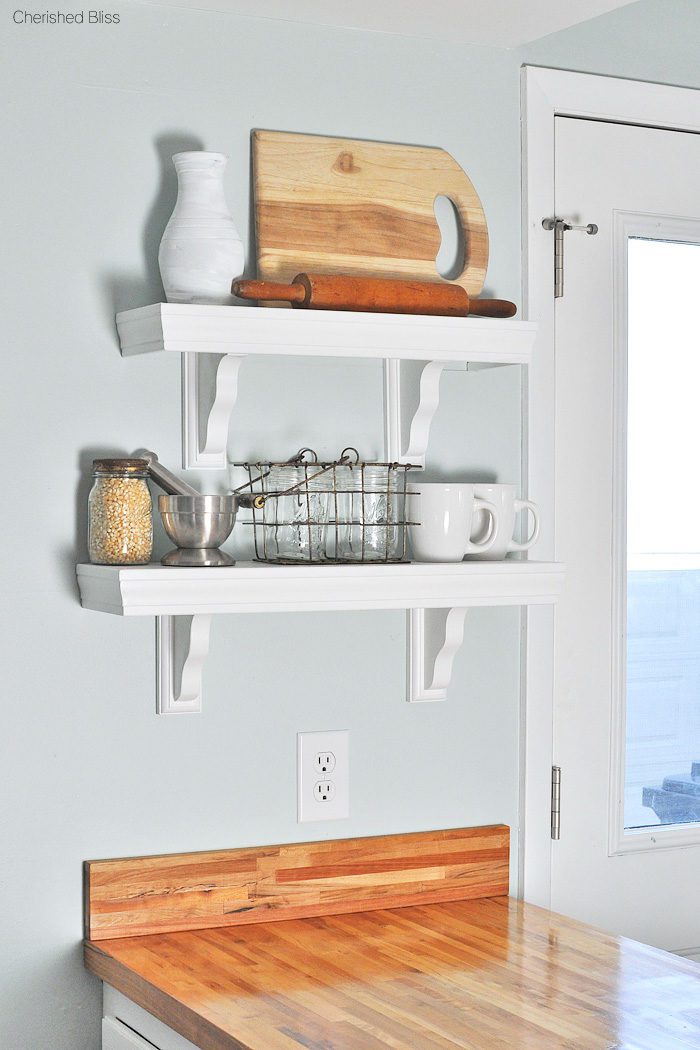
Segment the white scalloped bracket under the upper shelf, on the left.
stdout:
<path fill-rule="evenodd" d="M 235 354 L 183 354 L 183 467 L 226 468 L 229 421 L 238 397 Z"/>

